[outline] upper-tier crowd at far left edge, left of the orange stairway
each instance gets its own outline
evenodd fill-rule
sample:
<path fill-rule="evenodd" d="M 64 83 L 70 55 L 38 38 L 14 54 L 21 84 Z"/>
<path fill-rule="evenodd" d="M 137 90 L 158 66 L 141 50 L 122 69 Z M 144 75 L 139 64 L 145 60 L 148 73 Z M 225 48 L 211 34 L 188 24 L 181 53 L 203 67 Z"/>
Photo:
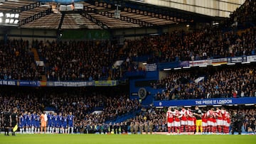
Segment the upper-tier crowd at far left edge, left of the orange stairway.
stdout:
<path fill-rule="evenodd" d="M 34 80 L 40 76 L 28 41 L 0 41 L 0 79 Z"/>

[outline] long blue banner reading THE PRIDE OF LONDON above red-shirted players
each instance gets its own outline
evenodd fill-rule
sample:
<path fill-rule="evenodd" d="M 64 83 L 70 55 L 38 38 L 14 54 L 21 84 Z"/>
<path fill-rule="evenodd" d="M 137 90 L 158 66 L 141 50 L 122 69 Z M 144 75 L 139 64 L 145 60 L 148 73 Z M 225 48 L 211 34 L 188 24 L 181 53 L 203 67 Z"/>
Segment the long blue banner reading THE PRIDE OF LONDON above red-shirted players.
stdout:
<path fill-rule="evenodd" d="M 154 106 L 213 106 L 230 104 L 256 104 L 256 97 L 154 101 Z"/>

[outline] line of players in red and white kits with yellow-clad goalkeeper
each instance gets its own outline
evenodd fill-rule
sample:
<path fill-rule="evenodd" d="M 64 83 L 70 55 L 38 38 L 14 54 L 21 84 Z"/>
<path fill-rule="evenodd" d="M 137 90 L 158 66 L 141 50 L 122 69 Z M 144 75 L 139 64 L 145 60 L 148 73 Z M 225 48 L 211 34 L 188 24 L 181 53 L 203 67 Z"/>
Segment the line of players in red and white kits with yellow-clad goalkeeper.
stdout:
<path fill-rule="evenodd" d="M 198 106 L 195 110 L 185 109 L 181 111 L 169 107 L 166 112 L 168 135 L 171 133 L 222 133 L 228 134 L 230 127 L 230 113 L 224 108 L 211 108 L 201 111 Z"/>

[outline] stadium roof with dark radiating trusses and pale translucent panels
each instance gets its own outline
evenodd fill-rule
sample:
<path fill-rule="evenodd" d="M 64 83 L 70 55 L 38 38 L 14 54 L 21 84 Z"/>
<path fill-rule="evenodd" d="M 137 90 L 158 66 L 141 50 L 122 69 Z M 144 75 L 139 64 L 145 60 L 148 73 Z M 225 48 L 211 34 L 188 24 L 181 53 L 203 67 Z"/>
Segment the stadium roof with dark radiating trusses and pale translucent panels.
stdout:
<path fill-rule="evenodd" d="M 21 28 L 63 30 L 140 28 L 191 22 L 210 23 L 223 20 L 245 0 L 70 0 L 70 3 L 75 1 L 82 4 L 81 11 L 75 9 L 60 11 L 59 4 L 66 5 L 68 0 L 3 1 L 0 4 L 0 12 L 19 13 L 18 24 Z M 120 10 L 118 18 L 116 17 L 117 5 Z"/>

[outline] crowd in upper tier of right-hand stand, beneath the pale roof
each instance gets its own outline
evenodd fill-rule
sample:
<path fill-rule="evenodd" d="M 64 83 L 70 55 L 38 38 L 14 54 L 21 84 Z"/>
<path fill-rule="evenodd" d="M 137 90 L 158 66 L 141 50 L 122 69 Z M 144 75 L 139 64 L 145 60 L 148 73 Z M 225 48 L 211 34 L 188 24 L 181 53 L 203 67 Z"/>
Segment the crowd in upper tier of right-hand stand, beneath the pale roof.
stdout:
<path fill-rule="evenodd" d="M 129 57 L 149 55 L 154 62 L 206 60 L 209 58 L 255 55 L 255 28 L 238 35 L 218 28 L 203 28 L 186 33 L 174 31 L 164 35 L 126 40 L 122 52 Z"/>

